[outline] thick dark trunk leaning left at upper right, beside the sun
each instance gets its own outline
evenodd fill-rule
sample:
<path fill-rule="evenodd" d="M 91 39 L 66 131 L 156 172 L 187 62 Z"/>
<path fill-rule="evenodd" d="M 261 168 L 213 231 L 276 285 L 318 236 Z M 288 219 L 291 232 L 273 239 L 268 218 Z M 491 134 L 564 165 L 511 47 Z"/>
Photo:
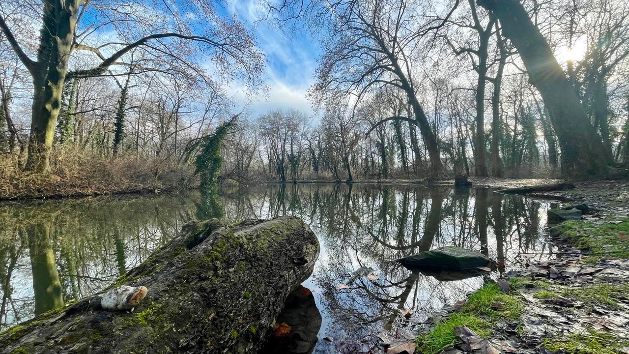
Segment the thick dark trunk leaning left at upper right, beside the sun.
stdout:
<path fill-rule="evenodd" d="M 575 177 L 606 173 L 611 159 L 574 88 L 524 6 L 518 0 L 477 0 L 477 3 L 496 14 L 504 36 L 518 49 L 531 83 L 542 94 L 559 137 L 563 173 Z"/>

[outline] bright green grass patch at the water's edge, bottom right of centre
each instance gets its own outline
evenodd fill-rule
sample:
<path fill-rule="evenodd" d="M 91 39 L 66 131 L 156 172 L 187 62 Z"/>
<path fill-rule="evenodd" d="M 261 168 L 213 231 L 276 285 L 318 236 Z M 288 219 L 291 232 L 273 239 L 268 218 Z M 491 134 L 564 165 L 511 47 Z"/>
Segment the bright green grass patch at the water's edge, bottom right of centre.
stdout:
<path fill-rule="evenodd" d="M 454 328 L 467 328 L 487 337 L 497 321 L 520 319 L 523 305 L 514 295 L 504 294 L 496 283 L 486 283 L 477 292 L 470 295 L 467 302 L 457 312 L 440 321 L 428 333 L 421 334 L 416 340 L 418 352 L 437 354 L 457 343 Z"/>

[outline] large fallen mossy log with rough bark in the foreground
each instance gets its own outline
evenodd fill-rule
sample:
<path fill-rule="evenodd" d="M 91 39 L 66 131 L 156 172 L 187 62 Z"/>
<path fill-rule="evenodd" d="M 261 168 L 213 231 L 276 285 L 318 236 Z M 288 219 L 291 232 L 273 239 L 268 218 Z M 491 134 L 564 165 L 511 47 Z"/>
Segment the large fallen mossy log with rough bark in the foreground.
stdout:
<path fill-rule="evenodd" d="M 296 217 L 189 222 L 109 287 L 147 287 L 134 311 L 104 311 L 105 289 L 1 333 L 0 352 L 255 353 L 318 254 Z"/>

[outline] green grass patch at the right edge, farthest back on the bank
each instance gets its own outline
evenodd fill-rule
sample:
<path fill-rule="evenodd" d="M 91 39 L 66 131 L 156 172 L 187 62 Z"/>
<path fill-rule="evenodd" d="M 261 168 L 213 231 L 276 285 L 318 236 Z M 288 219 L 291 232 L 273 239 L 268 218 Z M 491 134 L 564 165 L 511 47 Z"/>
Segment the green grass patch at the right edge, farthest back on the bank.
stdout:
<path fill-rule="evenodd" d="M 594 224 L 571 220 L 559 226 L 564 241 L 593 253 L 587 263 L 595 263 L 601 256 L 629 258 L 629 219 L 620 224 Z"/>

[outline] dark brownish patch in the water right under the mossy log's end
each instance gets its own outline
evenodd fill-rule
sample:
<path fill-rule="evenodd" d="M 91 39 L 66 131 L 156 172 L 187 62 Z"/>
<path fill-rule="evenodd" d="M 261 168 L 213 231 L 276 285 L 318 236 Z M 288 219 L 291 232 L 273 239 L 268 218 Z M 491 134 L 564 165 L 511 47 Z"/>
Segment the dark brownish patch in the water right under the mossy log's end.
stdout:
<path fill-rule="evenodd" d="M 284 325 L 288 332 L 282 335 L 272 334 L 260 354 L 312 353 L 321 328 L 321 314 L 312 292 L 299 285 L 286 299 L 284 310 L 277 317 L 276 323 Z"/>

